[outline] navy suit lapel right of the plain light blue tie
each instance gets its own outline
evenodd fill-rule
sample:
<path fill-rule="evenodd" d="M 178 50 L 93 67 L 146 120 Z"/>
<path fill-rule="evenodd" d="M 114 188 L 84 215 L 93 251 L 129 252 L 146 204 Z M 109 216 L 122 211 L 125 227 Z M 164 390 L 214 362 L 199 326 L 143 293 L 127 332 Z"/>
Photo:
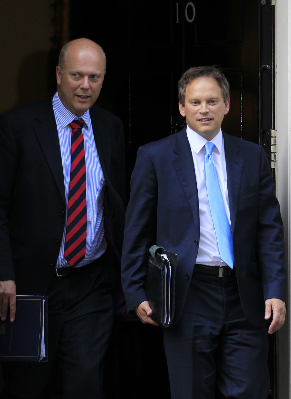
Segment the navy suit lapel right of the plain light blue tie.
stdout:
<path fill-rule="evenodd" d="M 238 194 L 242 181 L 244 158 L 238 154 L 240 148 L 234 142 L 232 136 L 229 136 L 223 132 L 223 138 L 225 147 L 225 163 L 227 167 L 227 191 L 229 194 L 230 222 L 231 231 L 233 233 L 236 221 Z"/>

